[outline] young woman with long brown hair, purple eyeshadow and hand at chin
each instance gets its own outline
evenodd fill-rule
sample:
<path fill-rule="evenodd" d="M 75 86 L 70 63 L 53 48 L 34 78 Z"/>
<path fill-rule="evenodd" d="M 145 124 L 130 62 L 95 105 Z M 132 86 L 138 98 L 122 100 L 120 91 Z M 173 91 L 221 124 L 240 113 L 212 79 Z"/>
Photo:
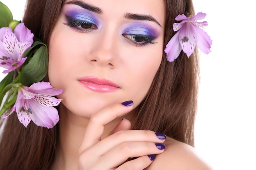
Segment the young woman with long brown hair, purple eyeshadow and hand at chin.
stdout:
<path fill-rule="evenodd" d="M 185 12 L 191 0 L 28 0 L 22 22 L 48 46 L 60 121 L 10 115 L 0 169 L 211 169 L 192 147 L 198 56 L 164 53 Z"/>

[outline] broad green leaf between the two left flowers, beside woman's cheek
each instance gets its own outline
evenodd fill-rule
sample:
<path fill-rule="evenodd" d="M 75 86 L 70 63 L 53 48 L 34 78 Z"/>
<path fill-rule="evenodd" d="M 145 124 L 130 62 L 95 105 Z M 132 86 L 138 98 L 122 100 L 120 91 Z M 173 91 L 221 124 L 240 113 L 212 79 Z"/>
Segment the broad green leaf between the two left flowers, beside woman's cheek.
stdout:
<path fill-rule="evenodd" d="M 40 46 L 40 48 L 35 51 L 33 57 L 29 59 L 29 62 L 23 66 L 21 71 L 21 83 L 25 86 L 40 82 L 48 71 L 47 47 Z"/>

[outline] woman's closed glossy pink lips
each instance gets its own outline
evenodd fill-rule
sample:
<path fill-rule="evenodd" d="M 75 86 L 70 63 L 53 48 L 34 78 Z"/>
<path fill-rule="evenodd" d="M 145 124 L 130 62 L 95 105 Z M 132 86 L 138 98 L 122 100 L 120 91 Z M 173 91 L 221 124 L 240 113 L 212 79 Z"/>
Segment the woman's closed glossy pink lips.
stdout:
<path fill-rule="evenodd" d="M 83 77 L 79 79 L 79 82 L 95 92 L 112 92 L 120 89 L 117 84 L 107 79 L 98 79 L 94 76 Z"/>

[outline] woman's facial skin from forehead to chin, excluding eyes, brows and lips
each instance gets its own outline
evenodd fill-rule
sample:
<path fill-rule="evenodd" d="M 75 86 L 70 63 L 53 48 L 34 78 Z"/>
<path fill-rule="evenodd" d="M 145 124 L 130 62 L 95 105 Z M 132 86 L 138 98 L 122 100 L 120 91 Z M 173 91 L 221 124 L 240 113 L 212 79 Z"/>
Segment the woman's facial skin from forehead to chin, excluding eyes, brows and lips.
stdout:
<path fill-rule="evenodd" d="M 150 14 L 164 25 L 164 13 L 157 13 L 164 10 L 164 4 L 159 6 L 152 0 L 153 4 L 144 9 L 146 0 L 139 4 L 136 2 L 136 5 L 113 1 L 120 7 L 126 6 L 114 12 L 110 2 L 86 2 L 102 9 L 102 14 L 93 13 L 95 20 L 99 20 L 99 28 L 83 33 L 63 24 L 67 23 L 65 14 L 68 11 L 81 9 L 78 5 L 64 5 L 49 44 L 49 79 L 52 86 L 63 89 L 58 97 L 63 99 L 62 103 L 72 113 L 89 118 L 110 104 L 132 100 L 137 106 L 144 99 L 162 60 L 160 51 L 163 48 L 164 28 L 151 21 L 125 19 L 124 14 L 148 14 L 154 11 Z M 153 5 L 159 6 L 158 10 Z M 153 40 L 157 44 L 131 44 L 130 39 L 122 33 L 130 28 L 138 29 L 139 26 L 130 26 L 133 24 L 151 26 L 158 32 L 157 38 Z M 112 93 L 95 93 L 77 81 L 85 76 L 108 79 L 120 89 Z"/>

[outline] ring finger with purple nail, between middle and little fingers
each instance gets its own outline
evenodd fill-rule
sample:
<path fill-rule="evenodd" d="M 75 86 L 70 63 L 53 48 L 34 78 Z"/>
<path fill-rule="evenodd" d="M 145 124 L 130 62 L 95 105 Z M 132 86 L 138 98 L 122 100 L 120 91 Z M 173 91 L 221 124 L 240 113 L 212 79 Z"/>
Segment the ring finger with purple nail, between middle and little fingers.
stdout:
<path fill-rule="evenodd" d="M 152 142 L 124 142 L 109 150 L 99 159 L 97 169 L 111 169 L 124 163 L 129 157 L 156 155 L 164 152 L 164 144 Z M 149 159 L 149 158 L 148 158 Z"/>

